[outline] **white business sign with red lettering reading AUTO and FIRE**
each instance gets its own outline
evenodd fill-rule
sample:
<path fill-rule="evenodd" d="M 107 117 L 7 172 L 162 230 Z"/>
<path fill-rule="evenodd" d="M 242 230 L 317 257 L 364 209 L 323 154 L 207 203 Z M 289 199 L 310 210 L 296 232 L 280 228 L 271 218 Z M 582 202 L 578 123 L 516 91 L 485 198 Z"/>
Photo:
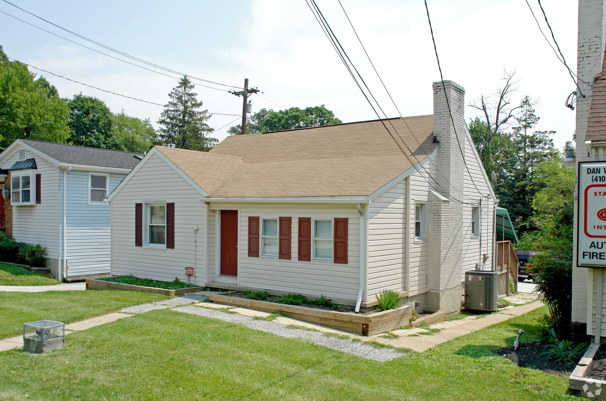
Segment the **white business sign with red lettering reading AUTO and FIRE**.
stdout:
<path fill-rule="evenodd" d="M 579 163 L 576 264 L 606 267 L 606 162 Z"/>

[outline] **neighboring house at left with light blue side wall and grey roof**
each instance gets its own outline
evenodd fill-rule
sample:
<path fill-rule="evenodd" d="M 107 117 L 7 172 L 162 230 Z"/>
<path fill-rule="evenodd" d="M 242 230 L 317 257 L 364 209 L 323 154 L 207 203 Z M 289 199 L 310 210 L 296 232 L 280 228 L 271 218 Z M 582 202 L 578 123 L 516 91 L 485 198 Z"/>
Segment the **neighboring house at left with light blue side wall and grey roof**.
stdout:
<path fill-rule="evenodd" d="M 110 206 L 105 199 L 143 156 L 17 139 L 0 154 L 10 188 L 7 234 L 46 248 L 53 276 L 107 276 Z"/>

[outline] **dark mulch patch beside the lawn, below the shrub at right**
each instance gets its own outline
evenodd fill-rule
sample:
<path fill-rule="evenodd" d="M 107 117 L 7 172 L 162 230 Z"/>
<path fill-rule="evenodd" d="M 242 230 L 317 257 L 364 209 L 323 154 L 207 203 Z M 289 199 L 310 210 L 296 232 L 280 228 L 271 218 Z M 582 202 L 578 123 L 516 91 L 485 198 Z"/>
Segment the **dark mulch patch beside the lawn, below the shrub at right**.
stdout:
<path fill-rule="evenodd" d="M 511 360 L 522 368 L 538 369 L 545 373 L 570 376 L 576 365 L 565 365 L 556 360 L 547 360 L 545 356 L 541 356 L 541 353 L 547 350 L 547 345 L 547 342 L 521 343 L 518 351 L 514 351 L 513 346 L 508 346 L 500 350 L 494 350 L 493 353 Z"/>

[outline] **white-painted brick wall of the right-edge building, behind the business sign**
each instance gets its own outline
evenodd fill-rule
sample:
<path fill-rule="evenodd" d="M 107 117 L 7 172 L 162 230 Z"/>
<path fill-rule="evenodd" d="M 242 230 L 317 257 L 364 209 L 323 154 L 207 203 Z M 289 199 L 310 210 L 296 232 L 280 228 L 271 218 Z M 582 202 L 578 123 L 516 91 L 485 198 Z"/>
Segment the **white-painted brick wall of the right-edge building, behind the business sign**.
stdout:
<path fill-rule="evenodd" d="M 576 160 L 587 161 L 588 147 L 585 145 L 585 131 L 591 104 L 593 78 L 602 71 L 604 58 L 604 38 L 606 10 L 604 0 L 579 0 L 579 35 L 577 52 L 578 85 L 585 98 L 579 96 L 576 103 Z M 585 82 L 582 82 L 585 81 Z M 574 221 L 577 220 L 577 194 L 574 199 Z M 574 232 L 577 227 L 574 225 Z M 573 244 L 573 302 L 572 321 L 587 322 L 587 268 L 576 267 L 576 235 Z"/>

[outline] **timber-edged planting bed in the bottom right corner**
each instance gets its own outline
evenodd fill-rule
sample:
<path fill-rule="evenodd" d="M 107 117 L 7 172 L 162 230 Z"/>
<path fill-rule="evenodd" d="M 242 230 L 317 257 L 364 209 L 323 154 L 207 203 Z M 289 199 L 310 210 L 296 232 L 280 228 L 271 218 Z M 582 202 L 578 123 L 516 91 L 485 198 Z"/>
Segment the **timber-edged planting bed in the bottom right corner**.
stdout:
<path fill-rule="evenodd" d="M 606 400 L 606 350 L 593 343 L 568 378 L 568 388 L 581 397 Z"/>

